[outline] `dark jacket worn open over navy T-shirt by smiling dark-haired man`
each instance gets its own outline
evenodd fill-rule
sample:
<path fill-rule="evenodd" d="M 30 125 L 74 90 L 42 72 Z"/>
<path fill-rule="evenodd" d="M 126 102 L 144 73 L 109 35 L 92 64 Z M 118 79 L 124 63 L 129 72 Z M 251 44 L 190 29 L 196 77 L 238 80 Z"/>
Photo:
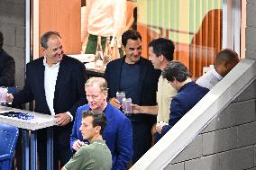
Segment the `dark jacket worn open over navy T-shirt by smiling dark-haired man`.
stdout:
<path fill-rule="evenodd" d="M 120 90 L 121 72 L 125 56 L 123 58 L 115 59 L 107 64 L 105 69 L 105 79 L 109 87 L 110 98 L 115 97 L 116 92 Z M 139 105 L 156 105 L 156 92 L 158 89 L 158 81 L 160 77 L 160 70 L 154 69 L 146 58 L 140 59 L 140 78 L 138 85 L 134 88 L 139 88 L 140 103 Z M 132 121 L 147 121 L 152 119 L 148 114 L 135 114 L 132 115 Z M 155 122 L 155 121 L 154 121 Z"/>

